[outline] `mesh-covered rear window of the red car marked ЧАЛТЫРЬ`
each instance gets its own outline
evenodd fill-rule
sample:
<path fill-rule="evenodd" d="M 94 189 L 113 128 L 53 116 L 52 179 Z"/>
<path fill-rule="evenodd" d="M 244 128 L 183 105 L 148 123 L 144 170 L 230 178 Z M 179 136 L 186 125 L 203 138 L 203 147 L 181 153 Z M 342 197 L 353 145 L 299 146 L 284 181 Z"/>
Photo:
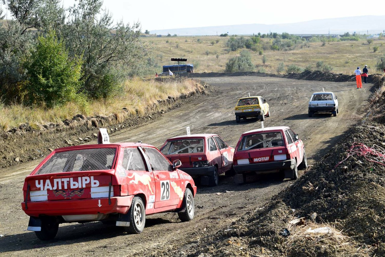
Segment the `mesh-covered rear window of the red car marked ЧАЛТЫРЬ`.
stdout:
<path fill-rule="evenodd" d="M 36 173 L 99 171 L 112 168 L 116 148 L 89 148 L 56 152 Z"/>

